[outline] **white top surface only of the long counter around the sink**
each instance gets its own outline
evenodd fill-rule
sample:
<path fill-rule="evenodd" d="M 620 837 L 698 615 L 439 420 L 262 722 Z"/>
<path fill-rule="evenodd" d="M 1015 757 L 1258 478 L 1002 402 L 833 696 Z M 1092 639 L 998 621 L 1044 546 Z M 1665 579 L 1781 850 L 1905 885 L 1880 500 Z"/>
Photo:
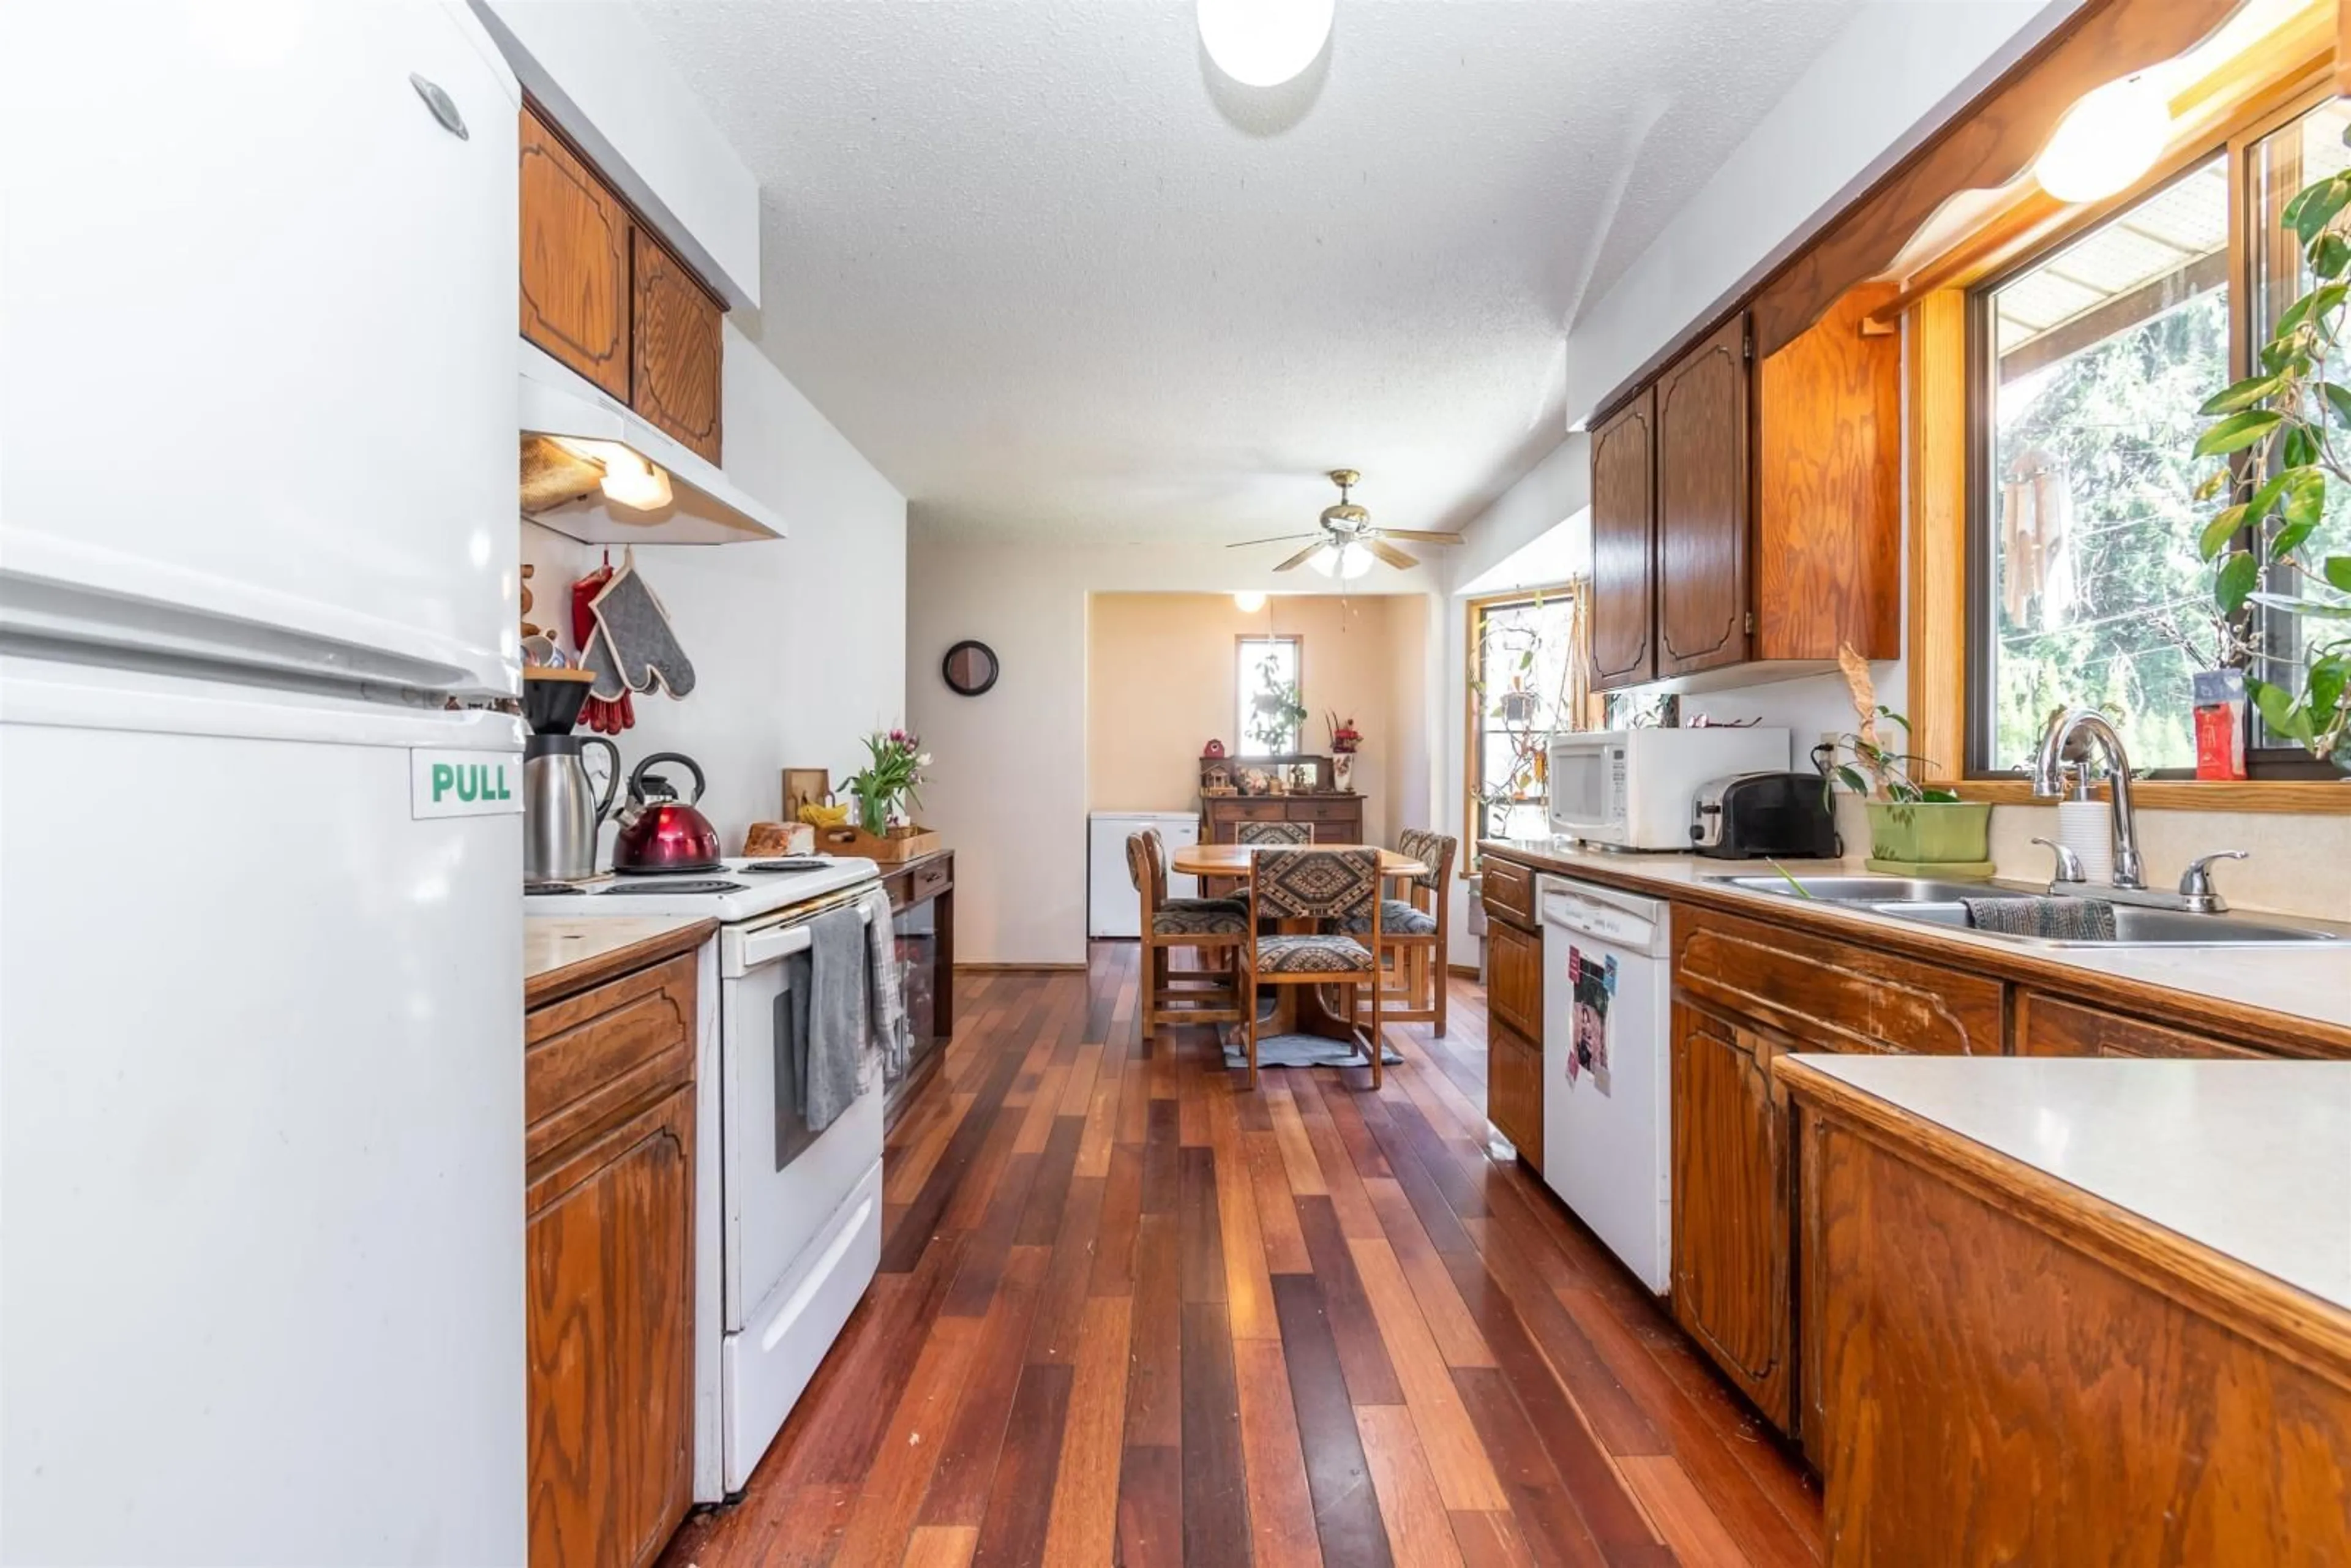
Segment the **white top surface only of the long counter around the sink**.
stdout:
<path fill-rule="evenodd" d="M 1509 849 L 1556 860 L 1568 867 L 1589 865 L 1613 877 L 1639 879 L 1672 896 L 1674 889 L 1704 884 L 1707 877 L 1759 877 L 1770 875 L 1768 860 L 1714 860 L 1707 856 L 1627 856 L 1552 839 L 1505 839 Z M 1857 863 L 1836 860 L 1787 860 L 1787 870 L 1803 875 L 1867 877 Z M 1987 884 L 1987 889 L 2034 893 L 2043 889 L 2020 884 Z M 1987 957 L 2024 959 L 2036 966 L 2074 969 L 2135 985 L 2168 992 L 2186 992 L 2245 1009 L 2266 1009 L 2288 1018 L 2351 1030 L 2351 945 L 2285 945 L 2285 947 L 2043 947 L 2038 943 L 2003 940 L 1968 931 L 1963 926 L 1928 926 L 1921 922 L 1878 914 L 1874 910 L 1838 907 L 1829 903 L 1803 903 L 1784 893 L 1754 893 L 1735 886 L 1707 886 L 1712 898 L 1751 907 L 1759 919 L 1787 917 L 1791 907 L 1827 922 L 1853 924 L 1855 931 L 1907 931 L 1925 936 L 1954 950 L 1982 952 Z M 2215 917 L 2226 919 L 2226 917 Z M 2283 926 L 2330 926 L 2327 922 L 2297 919 L 2290 914 L 2248 912 L 2248 919 Z M 2337 985 L 2323 985 L 2320 976 L 2332 973 Z"/>

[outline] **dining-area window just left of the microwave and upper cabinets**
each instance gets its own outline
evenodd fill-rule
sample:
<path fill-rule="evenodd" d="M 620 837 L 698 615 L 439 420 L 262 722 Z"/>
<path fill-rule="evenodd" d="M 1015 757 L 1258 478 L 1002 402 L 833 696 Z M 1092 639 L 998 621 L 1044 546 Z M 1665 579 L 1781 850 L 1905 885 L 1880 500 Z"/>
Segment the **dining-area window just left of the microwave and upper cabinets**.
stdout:
<path fill-rule="evenodd" d="M 1580 595 L 1563 585 L 1469 602 L 1467 835 L 1545 837 L 1549 743 L 1585 726 Z"/>

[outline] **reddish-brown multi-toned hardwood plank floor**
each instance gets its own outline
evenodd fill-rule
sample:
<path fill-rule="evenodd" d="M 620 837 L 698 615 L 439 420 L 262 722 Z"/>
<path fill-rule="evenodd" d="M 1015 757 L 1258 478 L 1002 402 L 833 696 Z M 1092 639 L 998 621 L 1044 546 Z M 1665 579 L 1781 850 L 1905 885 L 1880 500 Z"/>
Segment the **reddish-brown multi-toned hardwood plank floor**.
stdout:
<path fill-rule="evenodd" d="M 1486 1147 L 1483 992 L 1401 1067 L 1136 1032 L 1136 947 L 964 976 L 882 1274 L 665 1563 L 1817 1563 L 1820 1495 Z"/>

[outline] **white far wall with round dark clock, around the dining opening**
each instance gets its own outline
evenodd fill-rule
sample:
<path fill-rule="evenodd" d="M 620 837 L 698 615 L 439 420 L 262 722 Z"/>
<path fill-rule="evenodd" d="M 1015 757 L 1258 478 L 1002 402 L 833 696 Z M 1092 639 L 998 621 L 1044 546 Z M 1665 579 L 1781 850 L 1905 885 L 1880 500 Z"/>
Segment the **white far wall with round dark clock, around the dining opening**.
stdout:
<path fill-rule="evenodd" d="M 957 856 L 957 959 L 1086 959 L 1089 597 L 1331 588 L 1328 578 L 1307 571 L 1274 576 L 1267 569 L 1274 559 L 1277 552 L 1246 557 L 1206 543 L 971 541 L 915 529 L 905 607 L 907 717 L 933 755 L 936 783 L 926 790 L 922 823 L 938 827 Z M 1349 592 L 1427 599 L 1436 576 L 1429 567 L 1382 569 Z M 1004 670 L 978 698 L 955 696 L 938 677 L 938 661 L 964 637 L 990 644 Z M 1389 764 L 1404 780 L 1427 780 L 1429 769 L 1425 745 Z M 1413 788 L 1404 785 L 1406 799 Z M 1427 783 L 1418 788 L 1429 790 Z"/>

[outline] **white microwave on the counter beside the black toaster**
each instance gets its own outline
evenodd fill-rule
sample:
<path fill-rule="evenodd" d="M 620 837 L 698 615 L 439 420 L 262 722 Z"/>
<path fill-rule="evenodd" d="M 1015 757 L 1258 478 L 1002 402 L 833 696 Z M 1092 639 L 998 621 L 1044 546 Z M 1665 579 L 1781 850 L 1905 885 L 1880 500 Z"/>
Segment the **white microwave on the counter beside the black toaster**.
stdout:
<path fill-rule="evenodd" d="M 1589 729 L 1552 736 L 1552 835 L 1688 849 L 1690 799 L 1730 773 L 1784 773 L 1784 729 Z"/>

